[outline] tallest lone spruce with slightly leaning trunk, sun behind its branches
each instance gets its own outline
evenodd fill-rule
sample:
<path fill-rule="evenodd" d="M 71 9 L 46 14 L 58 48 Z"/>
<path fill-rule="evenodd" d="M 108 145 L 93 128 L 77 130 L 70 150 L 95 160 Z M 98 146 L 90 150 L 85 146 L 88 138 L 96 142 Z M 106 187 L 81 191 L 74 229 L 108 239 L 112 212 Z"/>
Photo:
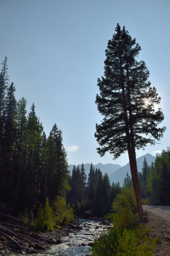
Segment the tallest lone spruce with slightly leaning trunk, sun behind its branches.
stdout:
<path fill-rule="evenodd" d="M 165 127 L 157 128 L 164 119 L 161 109 L 154 109 L 161 98 L 150 86 L 145 62 L 136 59 L 140 50 L 125 27 L 117 24 L 107 44 L 104 76 L 98 78 L 100 95 L 95 102 L 104 118 L 96 124 L 95 137 L 101 157 L 108 151 L 117 159 L 128 151 L 137 211 L 143 216 L 135 149 L 154 145 L 163 137 Z"/>

